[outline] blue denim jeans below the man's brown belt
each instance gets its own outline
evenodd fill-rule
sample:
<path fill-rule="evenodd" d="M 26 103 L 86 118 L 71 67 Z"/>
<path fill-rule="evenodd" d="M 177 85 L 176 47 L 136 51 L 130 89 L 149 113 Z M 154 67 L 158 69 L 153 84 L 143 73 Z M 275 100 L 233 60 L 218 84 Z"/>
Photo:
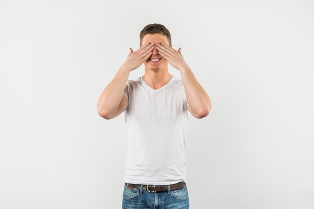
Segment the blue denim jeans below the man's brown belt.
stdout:
<path fill-rule="evenodd" d="M 124 186 L 122 209 L 189 209 L 189 194 L 187 186 L 164 192 L 149 192 Z"/>

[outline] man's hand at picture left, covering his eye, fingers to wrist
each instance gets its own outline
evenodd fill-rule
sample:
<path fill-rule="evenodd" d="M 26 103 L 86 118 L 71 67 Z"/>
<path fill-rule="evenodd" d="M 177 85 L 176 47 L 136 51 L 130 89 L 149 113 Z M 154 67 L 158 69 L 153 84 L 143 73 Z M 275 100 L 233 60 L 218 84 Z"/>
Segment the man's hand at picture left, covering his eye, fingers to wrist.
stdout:
<path fill-rule="evenodd" d="M 134 52 L 132 48 L 129 48 L 130 52 L 122 66 L 127 68 L 129 71 L 138 68 L 151 56 L 153 48 L 153 43 L 145 43 Z"/>

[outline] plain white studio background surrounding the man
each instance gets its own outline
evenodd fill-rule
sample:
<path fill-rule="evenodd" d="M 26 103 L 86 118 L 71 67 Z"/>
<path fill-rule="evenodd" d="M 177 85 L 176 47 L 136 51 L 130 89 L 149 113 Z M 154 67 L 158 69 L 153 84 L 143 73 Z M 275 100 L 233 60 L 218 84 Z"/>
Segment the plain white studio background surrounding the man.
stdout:
<path fill-rule="evenodd" d="M 96 104 L 155 22 L 213 103 L 191 208 L 314 208 L 312 0 L 0 0 L 0 208 L 121 208 L 124 116 Z"/>

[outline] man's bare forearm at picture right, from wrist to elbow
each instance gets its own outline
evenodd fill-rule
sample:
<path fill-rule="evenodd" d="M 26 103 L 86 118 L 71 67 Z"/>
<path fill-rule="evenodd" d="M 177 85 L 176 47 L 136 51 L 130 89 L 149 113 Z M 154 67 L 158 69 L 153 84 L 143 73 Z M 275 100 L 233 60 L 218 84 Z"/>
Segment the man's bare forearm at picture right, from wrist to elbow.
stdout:
<path fill-rule="evenodd" d="M 189 66 L 182 67 L 180 73 L 186 92 L 187 108 L 197 118 L 207 116 L 212 107 L 208 94 L 197 81 Z"/>

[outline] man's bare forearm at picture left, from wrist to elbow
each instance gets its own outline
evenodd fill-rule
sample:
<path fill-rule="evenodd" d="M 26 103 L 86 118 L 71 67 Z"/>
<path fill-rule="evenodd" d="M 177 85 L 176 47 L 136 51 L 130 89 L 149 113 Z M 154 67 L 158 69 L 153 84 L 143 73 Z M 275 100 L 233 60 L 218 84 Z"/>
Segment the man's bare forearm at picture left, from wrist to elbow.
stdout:
<path fill-rule="evenodd" d="M 123 96 L 129 72 L 129 70 L 121 67 L 112 81 L 101 93 L 97 103 L 97 110 L 100 116 L 111 118 L 111 115 L 117 111 Z"/>

